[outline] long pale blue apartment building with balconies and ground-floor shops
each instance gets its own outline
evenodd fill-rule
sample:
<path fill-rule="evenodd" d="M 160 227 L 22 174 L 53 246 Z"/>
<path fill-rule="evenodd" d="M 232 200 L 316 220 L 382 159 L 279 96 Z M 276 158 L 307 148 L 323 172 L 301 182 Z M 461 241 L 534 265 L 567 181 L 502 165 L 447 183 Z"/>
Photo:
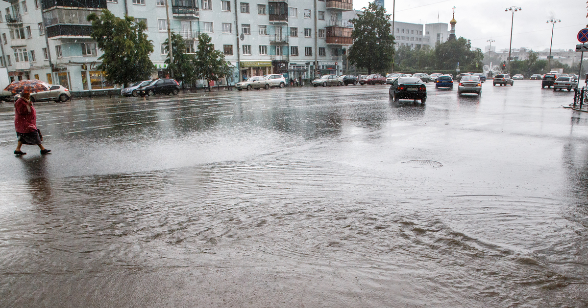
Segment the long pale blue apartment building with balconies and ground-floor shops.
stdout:
<path fill-rule="evenodd" d="M 0 9 L 0 66 L 9 78 L 40 79 L 74 92 L 113 87 L 96 68 L 101 52 L 86 21 L 102 9 L 146 22 L 155 49 L 153 78 L 165 76 L 166 13 L 171 30 L 186 40 L 186 52 L 196 51 L 200 33 L 211 36 L 235 66 L 235 82 L 266 73 L 302 79 L 341 74 L 342 48 L 352 44 L 342 13 L 353 9 L 353 0 L 3 0 Z"/>

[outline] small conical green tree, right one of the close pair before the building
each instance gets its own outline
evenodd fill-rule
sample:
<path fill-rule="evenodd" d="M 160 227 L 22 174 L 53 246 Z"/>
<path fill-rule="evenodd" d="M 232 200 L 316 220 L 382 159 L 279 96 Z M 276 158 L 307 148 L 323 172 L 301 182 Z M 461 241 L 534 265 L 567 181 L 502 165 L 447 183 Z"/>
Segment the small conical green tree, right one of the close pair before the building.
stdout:
<path fill-rule="evenodd" d="M 215 50 L 211 44 L 211 37 L 206 33 L 198 36 L 198 51 L 196 52 L 196 78 L 206 80 L 208 90 L 211 90 L 210 82 L 220 80 L 225 76 L 232 76 L 233 66 L 226 62 L 225 54 Z"/>

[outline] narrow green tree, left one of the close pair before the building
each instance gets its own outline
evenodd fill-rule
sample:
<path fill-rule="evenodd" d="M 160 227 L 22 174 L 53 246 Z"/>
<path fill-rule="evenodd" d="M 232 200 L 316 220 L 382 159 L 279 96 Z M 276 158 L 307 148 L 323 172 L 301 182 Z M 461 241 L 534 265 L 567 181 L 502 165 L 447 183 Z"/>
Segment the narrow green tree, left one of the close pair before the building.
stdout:
<path fill-rule="evenodd" d="M 163 42 L 165 52 L 169 50 L 169 39 Z M 168 74 L 173 70 L 173 78 L 178 82 L 182 82 L 182 87 L 185 83 L 192 83 L 196 81 L 196 72 L 194 70 L 194 63 L 196 57 L 186 53 L 186 43 L 181 35 L 172 32 L 172 52 L 173 63 L 170 63 L 169 52 L 165 59 L 165 64 L 168 65 L 166 69 Z"/>

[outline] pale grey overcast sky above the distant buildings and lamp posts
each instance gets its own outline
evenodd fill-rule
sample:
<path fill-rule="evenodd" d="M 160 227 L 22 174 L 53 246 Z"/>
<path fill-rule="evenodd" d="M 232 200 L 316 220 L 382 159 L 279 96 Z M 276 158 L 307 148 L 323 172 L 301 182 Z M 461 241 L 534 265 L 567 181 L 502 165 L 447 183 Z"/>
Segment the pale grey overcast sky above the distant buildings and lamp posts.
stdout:
<path fill-rule="evenodd" d="M 373 0 L 372 0 L 373 1 Z M 368 0 L 354 0 L 355 9 L 368 6 Z M 392 14 L 392 0 L 385 0 L 387 13 Z M 513 48 L 530 48 L 541 51 L 549 49 L 552 24 L 549 19 L 562 22 L 553 31 L 553 49 L 576 49 L 576 35 L 586 28 L 586 0 L 412 0 L 396 1 L 396 21 L 412 23 L 448 23 L 455 6 L 455 33 L 472 40 L 472 46 L 484 50 L 493 39 L 496 51 L 509 48 L 510 20 L 512 14 L 505 12 L 510 6 L 519 6 L 513 23 Z M 391 17 L 390 17 L 391 18 Z"/>

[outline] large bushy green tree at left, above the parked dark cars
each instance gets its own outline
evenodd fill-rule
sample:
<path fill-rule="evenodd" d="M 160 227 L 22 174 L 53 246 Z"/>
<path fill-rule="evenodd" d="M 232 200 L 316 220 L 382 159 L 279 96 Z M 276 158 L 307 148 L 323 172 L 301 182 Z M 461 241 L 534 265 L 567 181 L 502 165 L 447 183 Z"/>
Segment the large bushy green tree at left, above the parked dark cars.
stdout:
<path fill-rule="evenodd" d="M 103 9 L 100 16 L 91 13 L 88 21 L 92 22 L 91 36 L 103 52 L 98 69 L 106 72 L 106 80 L 127 86 L 151 78 L 155 69 L 149 59 L 153 44 L 147 39 L 144 22 L 135 23 L 135 18 L 127 15 L 118 18 L 108 9 Z"/>

